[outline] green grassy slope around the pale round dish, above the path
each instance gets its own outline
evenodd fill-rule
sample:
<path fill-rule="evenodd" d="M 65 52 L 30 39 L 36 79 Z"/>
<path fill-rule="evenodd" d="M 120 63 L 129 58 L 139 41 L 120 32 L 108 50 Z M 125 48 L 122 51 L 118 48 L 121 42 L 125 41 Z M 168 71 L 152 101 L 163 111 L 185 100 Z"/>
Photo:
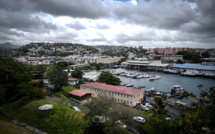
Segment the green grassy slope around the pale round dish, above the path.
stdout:
<path fill-rule="evenodd" d="M 57 102 L 53 102 L 47 99 L 41 99 L 32 101 L 26 105 L 22 104 L 22 101 L 17 101 L 8 105 L 4 105 L 2 111 L 21 122 L 32 125 L 36 128 L 43 129 L 44 117 L 48 115 L 47 112 L 42 112 L 38 109 L 39 106 L 44 104 L 53 104 L 57 105 Z M 70 109 L 68 107 L 68 109 Z M 74 110 L 72 110 L 75 112 Z M 80 118 L 84 116 L 84 114 L 80 113 Z"/>

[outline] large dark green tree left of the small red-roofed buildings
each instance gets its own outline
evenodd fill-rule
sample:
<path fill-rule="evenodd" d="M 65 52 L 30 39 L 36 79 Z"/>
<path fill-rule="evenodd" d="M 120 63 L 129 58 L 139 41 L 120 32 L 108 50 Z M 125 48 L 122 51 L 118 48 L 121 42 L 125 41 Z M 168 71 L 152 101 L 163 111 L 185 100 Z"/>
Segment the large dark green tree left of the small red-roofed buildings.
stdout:
<path fill-rule="evenodd" d="M 46 77 L 57 89 L 61 89 L 63 86 L 68 85 L 68 75 L 59 66 L 47 70 Z"/>

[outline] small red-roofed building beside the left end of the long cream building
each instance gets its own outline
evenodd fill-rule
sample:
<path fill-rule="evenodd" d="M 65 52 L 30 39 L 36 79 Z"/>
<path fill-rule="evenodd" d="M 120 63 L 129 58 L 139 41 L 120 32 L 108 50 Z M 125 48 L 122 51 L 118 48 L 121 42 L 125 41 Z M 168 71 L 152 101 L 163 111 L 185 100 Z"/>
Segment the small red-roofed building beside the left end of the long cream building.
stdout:
<path fill-rule="evenodd" d="M 81 105 L 85 105 L 92 100 L 92 93 L 85 90 L 72 90 L 69 92 L 69 96 L 70 99 Z"/>

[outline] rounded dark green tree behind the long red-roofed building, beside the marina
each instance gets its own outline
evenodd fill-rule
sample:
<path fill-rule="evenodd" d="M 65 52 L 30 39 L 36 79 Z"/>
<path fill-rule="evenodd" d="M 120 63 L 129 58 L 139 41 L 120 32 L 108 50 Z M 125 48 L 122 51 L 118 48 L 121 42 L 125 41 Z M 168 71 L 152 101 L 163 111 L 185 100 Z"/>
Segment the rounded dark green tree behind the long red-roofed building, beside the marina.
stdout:
<path fill-rule="evenodd" d="M 111 85 L 119 85 L 121 82 L 119 78 L 113 76 L 113 74 L 108 71 L 102 71 L 97 81 Z"/>

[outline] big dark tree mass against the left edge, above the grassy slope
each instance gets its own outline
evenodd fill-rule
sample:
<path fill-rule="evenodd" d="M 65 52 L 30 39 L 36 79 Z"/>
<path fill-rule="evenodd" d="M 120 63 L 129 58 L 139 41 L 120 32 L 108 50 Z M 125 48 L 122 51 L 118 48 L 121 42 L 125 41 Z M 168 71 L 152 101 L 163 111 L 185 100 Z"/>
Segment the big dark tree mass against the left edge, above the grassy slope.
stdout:
<path fill-rule="evenodd" d="M 22 82 L 29 83 L 32 78 L 28 66 L 5 57 L 0 58 L 0 74 L 1 89 L 4 89 L 5 99 L 10 101 L 19 94 L 17 86 Z"/>

